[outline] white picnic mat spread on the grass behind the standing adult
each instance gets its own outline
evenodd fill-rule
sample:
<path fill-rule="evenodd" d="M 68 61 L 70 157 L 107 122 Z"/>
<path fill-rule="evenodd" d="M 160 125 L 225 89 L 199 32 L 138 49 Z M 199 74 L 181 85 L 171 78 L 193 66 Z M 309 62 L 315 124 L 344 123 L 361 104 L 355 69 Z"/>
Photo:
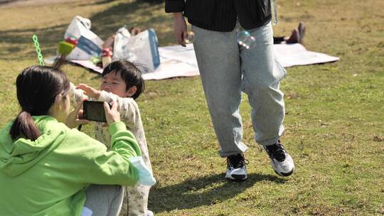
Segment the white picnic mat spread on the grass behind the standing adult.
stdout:
<path fill-rule="evenodd" d="M 274 44 L 274 55 L 279 59 L 284 68 L 296 65 L 313 65 L 319 63 L 335 62 L 340 58 L 324 53 L 316 53 L 300 44 Z M 163 80 L 171 77 L 190 77 L 199 75 L 193 45 L 188 44 L 186 48 L 180 45 L 159 47 L 160 66 L 153 72 L 143 75 L 144 80 Z M 46 60 L 47 63 L 48 60 Z M 95 72 L 102 73 L 90 60 L 71 60 L 72 63 L 89 68 Z"/>

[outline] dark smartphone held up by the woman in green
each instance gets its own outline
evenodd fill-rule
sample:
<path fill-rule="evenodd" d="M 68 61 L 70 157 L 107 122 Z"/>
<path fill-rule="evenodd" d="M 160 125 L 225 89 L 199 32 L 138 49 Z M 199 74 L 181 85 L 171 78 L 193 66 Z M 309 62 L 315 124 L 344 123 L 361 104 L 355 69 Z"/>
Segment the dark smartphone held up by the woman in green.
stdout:
<path fill-rule="evenodd" d="M 110 104 L 110 103 L 108 103 Z M 110 104 L 112 108 L 112 105 Z M 107 122 L 104 111 L 104 102 L 86 100 L 82 103 L 83 118 L 90 121 Z"/>

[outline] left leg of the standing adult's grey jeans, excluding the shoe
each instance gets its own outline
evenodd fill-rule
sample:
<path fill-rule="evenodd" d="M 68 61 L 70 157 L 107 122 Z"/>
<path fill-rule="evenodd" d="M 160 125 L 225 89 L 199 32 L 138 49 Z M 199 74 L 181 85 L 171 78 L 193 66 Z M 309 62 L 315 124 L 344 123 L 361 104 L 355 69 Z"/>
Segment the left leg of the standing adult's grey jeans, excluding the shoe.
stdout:
<path fill-rule="evenodd" d="M 240 53 L 235 30 L 208 31 L 193 26 L 193 42 L 206 101 L 220 156 L 227 157 L 247 150 L 242 143 Z"/>

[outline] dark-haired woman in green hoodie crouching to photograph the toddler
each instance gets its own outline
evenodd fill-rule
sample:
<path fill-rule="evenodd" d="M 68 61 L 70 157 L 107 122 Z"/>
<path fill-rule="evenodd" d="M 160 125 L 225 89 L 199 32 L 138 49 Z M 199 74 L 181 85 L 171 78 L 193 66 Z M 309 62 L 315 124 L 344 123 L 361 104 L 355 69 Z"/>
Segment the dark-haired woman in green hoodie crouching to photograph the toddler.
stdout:
<path fill-rule="evenodd" d="M 105 104 L 111 149 L 73 129 L 68 77 L 31 66 L 16 79 L 21 112 L 0 131 L 0 215 L 118 215 L 122 187 L 139 173 L 129 159 L 141 156 L 116 104 Z M 100 192 L 100 193 L 99 193 Z"/>

